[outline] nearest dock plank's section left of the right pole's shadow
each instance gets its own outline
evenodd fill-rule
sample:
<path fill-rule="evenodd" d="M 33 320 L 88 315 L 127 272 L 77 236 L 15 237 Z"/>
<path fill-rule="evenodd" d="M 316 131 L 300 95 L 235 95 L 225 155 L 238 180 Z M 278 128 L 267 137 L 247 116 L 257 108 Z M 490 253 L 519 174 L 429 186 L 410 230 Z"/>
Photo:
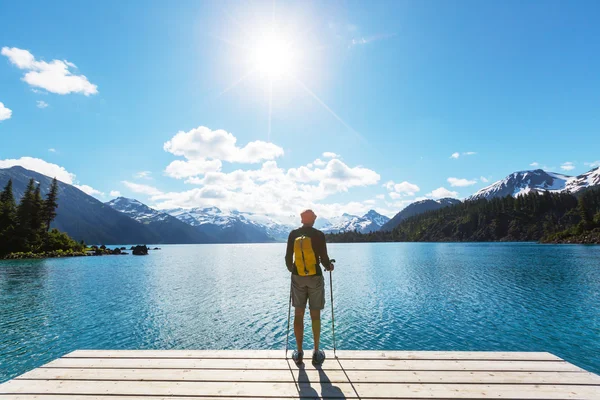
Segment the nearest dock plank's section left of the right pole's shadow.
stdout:
<path fill-rule="evenodd" d="M 355 398 L 352 386 L 339 384 L 298 384 L 300 396 Z M 126 382 L 126 381 L 29 381 L 12 380 L 0 386 L 0 394 L 85 394 L 133 396 L 255 396 L 298 397 L 294 383 L 263 382 Z"/>

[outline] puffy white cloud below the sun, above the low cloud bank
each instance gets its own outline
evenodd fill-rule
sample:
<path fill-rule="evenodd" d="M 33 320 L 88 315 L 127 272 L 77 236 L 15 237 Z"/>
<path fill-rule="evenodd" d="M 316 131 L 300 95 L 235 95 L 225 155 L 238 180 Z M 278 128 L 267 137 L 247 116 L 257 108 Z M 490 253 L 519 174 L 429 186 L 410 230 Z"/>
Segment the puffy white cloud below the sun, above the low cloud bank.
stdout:
<path fill-rule="evenodd" d="M 237 138 L 231 133 L 200 126 L 189 132 L 178 132 L 163 148 L 188 160 L 215 159 L 237 163 L 258 163 L 283 155 L 283 149 L 273 143 L 256 140 L 238 147 L 236 142 Z"/>

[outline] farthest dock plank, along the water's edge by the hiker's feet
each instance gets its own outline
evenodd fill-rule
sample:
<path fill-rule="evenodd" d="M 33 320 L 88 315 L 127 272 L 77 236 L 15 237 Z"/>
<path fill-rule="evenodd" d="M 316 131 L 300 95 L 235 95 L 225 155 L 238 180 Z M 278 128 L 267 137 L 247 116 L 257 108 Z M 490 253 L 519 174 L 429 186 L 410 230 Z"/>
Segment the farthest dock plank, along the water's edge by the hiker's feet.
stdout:
<path fill-rule="evenodd" d="M 329 358 L 333 351 L 326 350 Z M 282 350 L 76 350 L 66 358 L 276 358 L 285 356 Z M 288 351 L 291 358 L 292 351 Z M 396 360 L 507 360 L 560 361 L 546 352 L 486 352 L 486 351 L 355 351 L 339 350 L 340 359 Z"/>

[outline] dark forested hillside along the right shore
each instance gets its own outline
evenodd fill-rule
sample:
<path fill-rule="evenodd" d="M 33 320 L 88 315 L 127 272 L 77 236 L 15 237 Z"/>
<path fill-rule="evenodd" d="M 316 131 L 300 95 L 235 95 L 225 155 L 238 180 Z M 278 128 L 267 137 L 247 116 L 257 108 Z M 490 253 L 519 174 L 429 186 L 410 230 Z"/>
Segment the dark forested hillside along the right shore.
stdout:
<path fill-rule="evenodd" d="M 327 241 L 600 244 L 600 189 L 465 201 L 410 217 L 391 231 L 334 233 Z"/>

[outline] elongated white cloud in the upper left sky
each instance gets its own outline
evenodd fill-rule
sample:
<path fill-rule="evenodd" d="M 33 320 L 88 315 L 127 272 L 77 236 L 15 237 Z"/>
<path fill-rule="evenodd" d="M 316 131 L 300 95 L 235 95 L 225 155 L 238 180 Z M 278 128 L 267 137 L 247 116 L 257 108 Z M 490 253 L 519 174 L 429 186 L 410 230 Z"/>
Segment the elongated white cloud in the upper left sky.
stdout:
<path fill-rule="evenodd" d="M 98 93 L 98 87 L 85 75 L 73 74 L 75 64 L 66 60 L 36 61 L 33 54 L 16 47 L 3 47 L 1 54 L 8 57 L 17 68 L 26 70 L 23 81 L 51 93 L 81 93 L 86 96 Z"/>

